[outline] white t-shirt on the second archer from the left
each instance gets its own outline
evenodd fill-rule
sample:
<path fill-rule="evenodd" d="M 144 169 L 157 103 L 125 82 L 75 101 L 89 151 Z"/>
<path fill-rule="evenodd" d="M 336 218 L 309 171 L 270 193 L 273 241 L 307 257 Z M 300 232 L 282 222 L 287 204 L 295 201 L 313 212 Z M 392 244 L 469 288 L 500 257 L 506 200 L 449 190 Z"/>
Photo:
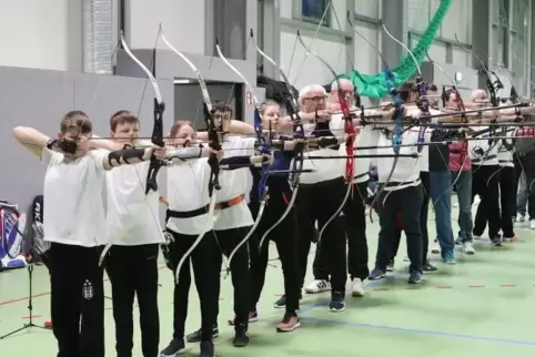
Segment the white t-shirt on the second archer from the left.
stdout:
<path fill-rule="evenodd" d="M 163 243 L 159 194 L 145 195 L 150 162 L 123 165 L 105 173 L 107 237 L 114 245 Z"/>

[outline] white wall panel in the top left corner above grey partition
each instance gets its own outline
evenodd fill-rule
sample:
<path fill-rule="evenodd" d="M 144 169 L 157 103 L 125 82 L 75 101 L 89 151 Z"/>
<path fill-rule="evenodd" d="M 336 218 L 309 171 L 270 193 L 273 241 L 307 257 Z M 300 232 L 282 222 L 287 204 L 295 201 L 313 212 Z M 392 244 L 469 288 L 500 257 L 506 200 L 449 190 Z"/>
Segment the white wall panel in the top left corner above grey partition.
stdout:
<path fill-rule="evenodd" d="M 0 0 L 0 65 L 69 70 L 70 1 Z"/>

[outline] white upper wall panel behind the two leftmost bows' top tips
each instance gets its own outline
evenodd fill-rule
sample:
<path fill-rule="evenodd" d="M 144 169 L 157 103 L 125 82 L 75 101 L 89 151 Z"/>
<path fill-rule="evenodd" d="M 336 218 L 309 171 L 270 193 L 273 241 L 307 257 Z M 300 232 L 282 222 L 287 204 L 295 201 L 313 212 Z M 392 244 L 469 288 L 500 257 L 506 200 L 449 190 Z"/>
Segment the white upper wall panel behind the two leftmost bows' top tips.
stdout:
<path fill-rule="evenodd" d="M 154 48 L 158 28 L 162 23 L 165 38 L 179 51 L 204 53 L 204 0 L 127 2 L 125 27 L 132 49 Z M 166 49 L 164 43 L 159 43 L 159 48 Z"/>

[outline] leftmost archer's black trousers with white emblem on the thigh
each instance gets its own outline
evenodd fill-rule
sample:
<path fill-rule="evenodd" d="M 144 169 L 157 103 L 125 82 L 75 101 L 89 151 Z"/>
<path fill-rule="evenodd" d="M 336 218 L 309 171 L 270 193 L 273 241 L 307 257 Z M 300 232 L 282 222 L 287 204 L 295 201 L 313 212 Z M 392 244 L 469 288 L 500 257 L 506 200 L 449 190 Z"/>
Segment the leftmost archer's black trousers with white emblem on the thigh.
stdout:
<path fill-rule="evenodd" d="M 104 356 L 102 247 L 52 243 L 49 251 L 52 326 L 58 357 Z"/>

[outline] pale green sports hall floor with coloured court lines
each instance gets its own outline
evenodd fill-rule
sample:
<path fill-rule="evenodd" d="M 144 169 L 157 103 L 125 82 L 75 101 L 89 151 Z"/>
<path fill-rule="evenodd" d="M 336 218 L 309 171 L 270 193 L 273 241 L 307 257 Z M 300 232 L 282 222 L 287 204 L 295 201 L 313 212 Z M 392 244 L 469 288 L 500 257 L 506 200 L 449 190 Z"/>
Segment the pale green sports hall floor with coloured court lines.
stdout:
<path fill-rule="evenodd" d="M 453 213 L 456 216 L 456 211 Z M 430 217 L 434 214 L 430 212 Z M 456 222 L 453 221 L 456 228 Z M 434 237 L 434 221 L 428 222 Z M 373 264 L 377 223 L 370 224 L 367 237 Z M 432 261 L 440 272 L 425 276 L 418 286 L 406 284 L 407 263 L 402 243 L 396 269 L 388 278 L 367 283 L 367 295 L 347 298 L 343 313 L 330 313 L 329 293 L 305 296 L 301 306 L 302 326 L 289 334 L 275 332 L 284 310 L 273 308 L 283 292 L 277 261 L 269 267 L 266 286 L 259 305 L 260 322 L 251 324 L 251 344 L 232 347 L 232 285 L 223 279 L 221 335 L 216 355 L 248 357 L 351 356 L 351 357 L 442 357 L 442 356 L 535 356 L 535 232 L 516 228 L 521 239 L 492 247 L 476 241 L 476 254 L 457 254 L 457 265 L 446 266 L 437 256 Z M 276 257 L 272 246 L 272 257 Z M 312 258 L 312 257 L 311 257 Z M 311 263 L 312 264 L 312 263 Z M 172 274 L 162 264 L 160 274 L 161 347 L 172 336 Z M 223 276 L 222 276 L 223 278 Z M 312 278 L 309 274 L 307 282 Z M 110 296 L 109 283 L 105 283 Z M 33 304 L 36 324 L 49 319 L 49 278 L 44 267 L 34 273 Z M 28 273 L 26 269 L 0 274 L 0 335 L 28 323 Z M 138 317 L 134 317 L 138 320 Z M 192 289 L 188 330 L 199 327 L 196 292 Z M 114 355 L 114 324 L 111 300 L 107 299 L 107 350 Z M 134 356 L 142 357 L 139 328 L 134 336 Z M 190 345 L 185 356 L 196 356 L 199 346 Z M 0 356 L 55 356 L 55 340 L 50 330 L 33 328 L 0 339 Z"/>

